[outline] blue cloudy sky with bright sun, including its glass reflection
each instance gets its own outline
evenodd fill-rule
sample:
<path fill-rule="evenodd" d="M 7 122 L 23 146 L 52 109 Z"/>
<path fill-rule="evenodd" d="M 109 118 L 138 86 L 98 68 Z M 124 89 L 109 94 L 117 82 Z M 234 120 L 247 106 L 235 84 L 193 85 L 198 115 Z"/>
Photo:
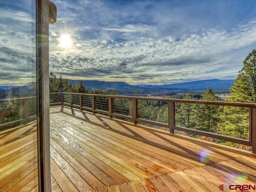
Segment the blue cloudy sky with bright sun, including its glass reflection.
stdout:
<path fill-rule="evenodd" d="M 33 6 L 8 2 L 0 0 L 0 85 L 10 78 L 24 84 L 34 78 Z M 58 14 L 49 26 L 50 71 L 64 78 L 234 79 L 256 48 L 255 1 L 52 2 Z"/>

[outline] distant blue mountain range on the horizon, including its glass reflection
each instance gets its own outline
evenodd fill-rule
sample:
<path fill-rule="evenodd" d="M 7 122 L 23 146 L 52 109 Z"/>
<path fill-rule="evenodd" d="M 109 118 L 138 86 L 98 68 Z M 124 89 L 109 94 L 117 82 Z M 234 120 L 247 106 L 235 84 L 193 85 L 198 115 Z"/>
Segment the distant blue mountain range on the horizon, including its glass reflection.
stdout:
<path fill-rule="evenodd" d="M 102 88 L 104 90 L 122 90 L 122 91 L 136 91 L 136 90 L 147 90 L 147 91 L 174 91 L 174 92 L 188 92 L 190 90 L 205 90 L 210 87 L 213 90 L 216 89 L 227 89 L 230 88 L 234 83 L 234 79 L 220 80 L 220 79 L 209 79 L 200 80 L 184 83 L 174 84 L 163 84 L 163 85 L 151 85 L 151 84 L 138 84 L 130 85 L 126 82 L 106 82 L 98 80 L 82 80 L 86 88 L 97 90 Z M 78 85 L 81 80 L 70 80 L 68 83 Z M 6 97 L 6 89 L 9 96 L 14 97 L 26 97 L 36 95 L 36 82 L 29 82 L 24 86 L 4 86 L 0 87 L 0 99 Z"/>

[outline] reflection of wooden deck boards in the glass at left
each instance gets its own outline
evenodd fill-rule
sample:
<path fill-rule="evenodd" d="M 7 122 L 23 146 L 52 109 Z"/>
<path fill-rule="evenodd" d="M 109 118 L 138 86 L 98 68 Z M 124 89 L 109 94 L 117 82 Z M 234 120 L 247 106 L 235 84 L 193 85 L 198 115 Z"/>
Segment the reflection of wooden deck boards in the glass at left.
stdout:
<path fill-rule="evenodd" d="M 38 191 L 36 123 L 0 132 L 0 192 Z"/>

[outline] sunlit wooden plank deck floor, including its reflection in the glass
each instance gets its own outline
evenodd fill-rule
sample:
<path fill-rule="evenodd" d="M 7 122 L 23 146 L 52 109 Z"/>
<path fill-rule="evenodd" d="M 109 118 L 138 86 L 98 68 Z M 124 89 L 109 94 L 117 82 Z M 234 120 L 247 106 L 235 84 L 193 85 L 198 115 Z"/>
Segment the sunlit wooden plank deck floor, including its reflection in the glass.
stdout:
<path fill-rule="evenodd" d="M 52 191 L 219 192 L 221 184 L 256 184 L 250 152 L 67 107 L 50 110 Z M 34 125 L 0 132 L 1 192 L 37 190 Z"/>

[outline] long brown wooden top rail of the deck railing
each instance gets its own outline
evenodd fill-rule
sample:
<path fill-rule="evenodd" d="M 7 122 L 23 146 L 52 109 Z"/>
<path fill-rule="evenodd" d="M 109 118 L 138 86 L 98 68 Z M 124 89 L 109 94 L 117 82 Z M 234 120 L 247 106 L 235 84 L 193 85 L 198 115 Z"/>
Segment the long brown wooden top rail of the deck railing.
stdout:
<path fill-rule="evenodd" d="M 162 102 L 180 102 L 180 103 L 192 103 L 192 104 L 207 104 L 207 105 L 256 108 L 255 103 L 203 101 L 203 100 L 186 100 L 186 99 L 168 99 L 168 98 L 135 97 L 135 96 L 120 96 L 120 95 L 99 95 L 99 94 L 82 94 L 82 93 L 66 93 L 66 92 L 63 92 L 63 94 L 96 96 L 96 97 L 111 97 L 111 98 L 124 98 L 124 99 L 152 100 L 152 101 L 162 101 Z"/>

